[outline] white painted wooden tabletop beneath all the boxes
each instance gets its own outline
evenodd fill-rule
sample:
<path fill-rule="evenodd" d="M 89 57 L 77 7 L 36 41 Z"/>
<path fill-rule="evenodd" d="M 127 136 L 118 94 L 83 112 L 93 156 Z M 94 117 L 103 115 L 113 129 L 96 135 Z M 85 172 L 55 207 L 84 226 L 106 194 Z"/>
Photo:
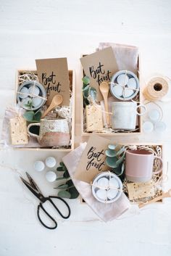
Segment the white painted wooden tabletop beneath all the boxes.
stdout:
<path fill-rule="evenodd" d="M 76 144 L 80 137 L 80 62 L 82 53 L 91 53 L 100 41 L 137 45 L 141 49 L 144 80 L 151 75 L 170 76 L 170 0 L 1 0 L 0 1 L 0 118 L 14 102 L 14 75 L 17 68 L 35 68 L 36 58 L 67 57 L 76 70 Z M 170 188 L 171 122 L 170 103 L 162 105 L 167 131 L 162 134 L 131 136 L 130 141 L 165 143 L 169 161 Z M 130 138 L 130 137 L 129 137 Z M 125 138 L 125 141 L 129 141 Z M 122 137 L 117 137 L 122 141 Z M 33 161 L 49 152 L 0 152 L 0 255 L 171 255 L 171 201 L 129 212 L 111 223 L 103 223 L 87 205 L 69 201 L 72 215 L 60 220 L 55 231 L 43 228 L 36 218 L 36 199 L 21 185 L 18 174 L 28 170 L 42 191 L 55 194 L 55 184 L 44 173 L 33 171 Z M 62 154 L 53 153 L 57 160 Z"/>

